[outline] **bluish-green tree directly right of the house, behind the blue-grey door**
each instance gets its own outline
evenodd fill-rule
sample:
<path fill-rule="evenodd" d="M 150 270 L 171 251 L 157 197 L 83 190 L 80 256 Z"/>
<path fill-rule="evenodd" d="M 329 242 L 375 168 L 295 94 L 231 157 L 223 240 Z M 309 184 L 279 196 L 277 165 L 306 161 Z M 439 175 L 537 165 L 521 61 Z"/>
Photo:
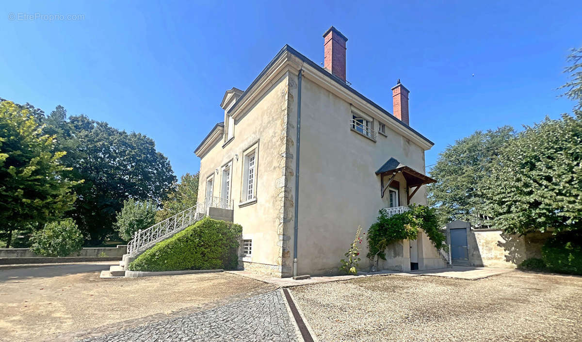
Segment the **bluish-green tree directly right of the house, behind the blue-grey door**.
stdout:
<path fill-rule="evenodd" d="M 510 126 L 485 133 L 475 131 L 439 154 L 437 164 L 430 171 L 437 183 L 428 186 L 428 205 L 437 208 L 441 227 L 452 220 L 483 225 L 480 212 L 483 199 L 477 191 L 490 172 L 492 159 L 513 136 Z"/>

